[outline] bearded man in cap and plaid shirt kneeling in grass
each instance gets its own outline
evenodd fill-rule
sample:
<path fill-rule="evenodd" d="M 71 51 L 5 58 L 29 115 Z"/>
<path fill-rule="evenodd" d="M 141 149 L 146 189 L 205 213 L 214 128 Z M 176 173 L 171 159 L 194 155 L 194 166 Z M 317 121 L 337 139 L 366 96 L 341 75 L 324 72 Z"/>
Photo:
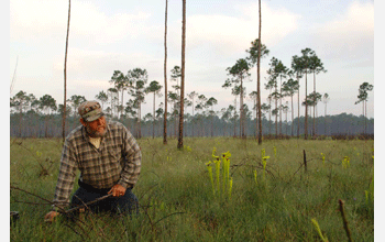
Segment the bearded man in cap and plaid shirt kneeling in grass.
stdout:
<path fill-rule="evenodd" d="M 135 139 L 123 124 L 107 123 L 97 101 L 81 103 L 78 112 L 81 125 L 70 132 L 64 143 L 54 209 L 45 220 L 53 221 L 57 209 L 68 206 L 77 169 L 80 170 L 79 189 L 70 207 L 111 194 L 89 208 L 95 212 L 138 212 L 138 198 L 131 189 L 140 175 L 142 153 Z"/>

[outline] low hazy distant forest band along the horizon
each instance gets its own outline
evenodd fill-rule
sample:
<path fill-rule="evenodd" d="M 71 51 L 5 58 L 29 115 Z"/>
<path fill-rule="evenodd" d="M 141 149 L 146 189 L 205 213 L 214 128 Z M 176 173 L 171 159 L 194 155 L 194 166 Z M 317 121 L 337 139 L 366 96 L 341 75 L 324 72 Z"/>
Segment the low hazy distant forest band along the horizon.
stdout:
<path fill-rule="evenodd" d="M 195 103 L 198 110 L 196 110 L 196 107 L 193 105 L 188 106 L 189 111 L 185 113 L 184 118 L 185 136 L 241 136 L 242 132 L 249 138 L 256 135 L 256 112 L 246 103 L 243 105 L 245 122 L 244 129 L 242 130 L 240 128 L 240 116 L 235 112 L 234 106 L 215 111 L 213 98 L 210 98 L 211 100 L 205 99 L 202 95 L 190 95 L 190 98 L 196 99 Z M 113 100 L 117 101 L 117 99 Z M 82 101 L 86 101 L 86 98 L 76 95 L 67 100 L 69 105 L 66 110 L 68 124 L 66 127 L 66 133 L 79 125 L 80 117 L 77 113 L 77 108 Z M 193 101 L 188 103 L 193 103 Z M 114 112 L 112 112 L 111 103 L 105 102 L 103 107 L 108 119 L 122 122 L 131 130 L 135 138 L 163 136 L 164 112 L 162 108 L 154 109 L 155 116 L 148 112 L 139 120 L 135 112 L 132 116 L 130 112 L 123 111 L 118 117 L 117 107 L 113 107 L 113 109 L 116 109 Z M 170 138 L 177 138 L 178 134 L 177 110 L 177 108 L 174 108 L 174 111 L 167 116 L 167 130 L 169 131 L 168 136 Z M 11 136 L 19 138 L 59 138 L 62 112 L 63 105 L 57 106 L 55 99 L 50 95 L 44 95 L 37 99 L 32 94 L 26 95 L 24 91 L 19 91 L 11 98 L 10 134 Z M 301 116 L 299 119 L 295 118 L 294 121 L 290 121 L 286 112 L 280 123 L 282 127 L 279 127 L 279 121 L 277 123 L 268 119 L 268 114 L 270 112 L 265 111 L 262 117 L 263 135 L 275 136 L 276 132 L 280 130 L 282 133 L 280 135 L 278 134 L 278 136 L 297 136 L 297 134 L 292 131 L 293 128 L 298 125 L 300 127 L 299 135 L 305 135 L 305 117 Z M 312 122 L 311 117 L 309 120 Z M 364 116 L 356 117 L 346 113 L 324 116 L 316 118 L 315 123 L 317 123 L 315 130 L 319 135 L 373 134 L 374 132 L 374 119 L 367 119 Z M 366 130 L 364 127 L 367 127 L 365 128 Z M 312 135 L 312 129 L 309 128 L 308 132 Z"/>

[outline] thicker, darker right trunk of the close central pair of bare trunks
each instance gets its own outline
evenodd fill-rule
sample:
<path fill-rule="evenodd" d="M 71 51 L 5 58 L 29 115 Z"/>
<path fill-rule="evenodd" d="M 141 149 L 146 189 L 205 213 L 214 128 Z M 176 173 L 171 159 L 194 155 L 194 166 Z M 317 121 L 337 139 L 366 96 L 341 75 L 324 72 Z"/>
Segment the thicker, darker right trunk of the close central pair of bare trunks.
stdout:
<path fill-rule="evenodd" d="M 185 109 L 185 50 L 186 50 L 186 0 L 183 0 L 182 21 L 182 76 L 180 76 L 180 112 L 179 112 L 179 138 L 177 148 L 183 148 L 184 109 Z"/>

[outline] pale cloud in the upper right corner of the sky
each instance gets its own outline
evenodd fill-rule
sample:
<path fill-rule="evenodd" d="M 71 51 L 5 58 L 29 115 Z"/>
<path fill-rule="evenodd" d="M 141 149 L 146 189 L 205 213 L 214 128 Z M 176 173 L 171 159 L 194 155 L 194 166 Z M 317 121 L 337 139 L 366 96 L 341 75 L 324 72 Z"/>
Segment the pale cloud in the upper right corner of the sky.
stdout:
<path fill-rule="evenodd" d="M 341 15 L 314 30 L 312 42 L 328 58 L 374 62 L 374 4 L 354 1 Z"/>

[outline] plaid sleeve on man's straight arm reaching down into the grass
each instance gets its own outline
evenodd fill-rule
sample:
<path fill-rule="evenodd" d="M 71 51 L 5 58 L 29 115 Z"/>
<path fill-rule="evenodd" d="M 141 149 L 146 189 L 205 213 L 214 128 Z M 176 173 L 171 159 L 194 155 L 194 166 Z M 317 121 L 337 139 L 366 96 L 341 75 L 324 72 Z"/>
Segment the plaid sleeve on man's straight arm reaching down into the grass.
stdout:
<path fill-rule="evenodd" d="M 54 197 L 54 207 L 64 209 L 69 205 L 69 196 L 74 188 L 77 163 L 73 145 L 64 143 L 61 168 Z"/>

